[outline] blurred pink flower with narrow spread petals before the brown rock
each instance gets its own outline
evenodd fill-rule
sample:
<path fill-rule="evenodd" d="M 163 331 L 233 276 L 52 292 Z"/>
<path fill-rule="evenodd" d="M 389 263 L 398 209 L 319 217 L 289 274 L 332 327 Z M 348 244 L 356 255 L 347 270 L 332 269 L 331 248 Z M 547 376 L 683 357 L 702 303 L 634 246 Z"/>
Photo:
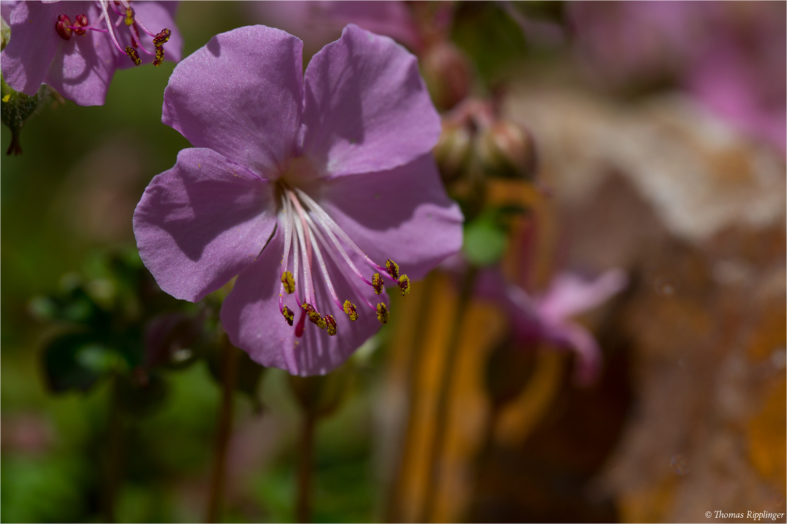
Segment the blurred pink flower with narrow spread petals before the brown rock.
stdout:
<path fill-rule="evenodd" d="M 593 334 L 571 317 L 600 306 L 627 284 L 628 278 L 621 269 L 610 269 L 595 280 L 560 273 L 544 295 L 534 298 L 490 270 L 479 277 L 477 290 L 479 295 L 505 304 L 519 342 L 543 340 L 574 350 L 578 357 L 575 377 L 578 383 L 587 384 L 600 370 L 601 351 Z"/>

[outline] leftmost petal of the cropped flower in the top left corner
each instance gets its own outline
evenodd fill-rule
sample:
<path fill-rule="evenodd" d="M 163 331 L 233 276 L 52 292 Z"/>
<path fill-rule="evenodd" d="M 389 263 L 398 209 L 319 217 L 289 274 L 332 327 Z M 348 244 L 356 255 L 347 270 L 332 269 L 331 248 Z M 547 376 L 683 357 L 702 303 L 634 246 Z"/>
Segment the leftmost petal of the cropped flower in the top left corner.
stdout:
<path fill-rule="evenodd" d="M 11 89 L 34 95 L 61 44 L 76 46 L 73 38 L 66 42 L 54 30 L 65 5 L 20 2 L 11 12 L 11 39 L 0 55 L 2 77 Z"/>

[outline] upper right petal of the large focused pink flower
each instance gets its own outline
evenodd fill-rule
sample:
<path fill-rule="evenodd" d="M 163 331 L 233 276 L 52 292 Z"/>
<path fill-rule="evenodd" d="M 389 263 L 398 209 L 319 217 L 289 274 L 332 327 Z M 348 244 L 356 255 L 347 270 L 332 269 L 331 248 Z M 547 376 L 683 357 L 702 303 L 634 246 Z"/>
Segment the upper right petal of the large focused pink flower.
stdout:
<path fill-rule="evenodd" d="M 303 123 L 303 151 L 331 176 L 410 163 L 441 130 L 416 57 L 353 24 L 309 63 Z"/>

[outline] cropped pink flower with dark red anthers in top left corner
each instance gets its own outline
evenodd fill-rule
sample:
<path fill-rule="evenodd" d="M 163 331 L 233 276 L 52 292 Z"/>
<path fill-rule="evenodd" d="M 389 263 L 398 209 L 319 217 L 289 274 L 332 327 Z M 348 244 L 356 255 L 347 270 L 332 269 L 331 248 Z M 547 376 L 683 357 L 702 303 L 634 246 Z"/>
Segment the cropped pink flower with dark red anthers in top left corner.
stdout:
<path fill-rule="evenodd" d="M 180 60 L 176 9 L 176 2 L 19 2 L 3 79 L 30 96 L 46 83 L 79 105 L 101 105 L 116 69 Z"/>

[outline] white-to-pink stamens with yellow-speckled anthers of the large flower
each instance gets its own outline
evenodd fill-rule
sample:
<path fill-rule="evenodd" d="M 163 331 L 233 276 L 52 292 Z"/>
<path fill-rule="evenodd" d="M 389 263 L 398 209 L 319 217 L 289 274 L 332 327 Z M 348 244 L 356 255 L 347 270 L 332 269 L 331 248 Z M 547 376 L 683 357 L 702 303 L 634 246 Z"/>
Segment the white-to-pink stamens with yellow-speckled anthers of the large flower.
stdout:
<path fill-rule="evenodd" d="M 279 224 L 284 228 L 284 253 L 281 266 L 281 287 L 279 289 L 279 310 L 287 324 L 293 325 L 295 313 L 284 305 L 284 295 L 294 294 L 295 302 L 301 308 L 301 317 L 295 324 L 295 335 L 303 335 L 305 319 L 316 324 L 317 327 L 326 329 L 328 335 L 336 334 L 336 320 L 333 315 L 323 317 L 317 308 L 314 277 L 322 277 L 331 299 L 344 311 L 351 321 L 358 318 L 355 303 L 348 297 L 344 300 L 337 295 L 336 288 L 328 275 L 325 256 L 338 267 L 346 266 L 357 278 L 350 278 L 351 286 L 357 291 L 360 302 L 373 311 L 382 324 L 386 324 L 390 313 L 384 302 L 372 305 L 360 287 L 371 286 L 377 295 L 382 293 L 383 278 L 387 278 L 399 286 L 401 295 L 410 291 L 410 280 L 407 275 L 399 274 L 399 266 L 393 260 L 386 260 L 385 266 L 380 266 L 369 258 L 360 247 L 334 222 L 333 218 L 311 196 L 307 195 L 297 186 L 291 185 L 293 181 L 292 169 L 287 171 L 276 182 L 281 199 L 279 211 Z M 292 251 L 292 264 L 290 265 L 290 251 Z M 357 268 L 349 256 L 354 252 L 372 269 L 374 273 L 369 281 Z M 292 267 L 292 271 L 288 268 Z M 383 277 L 384 276 L 384 277 Z"/>

